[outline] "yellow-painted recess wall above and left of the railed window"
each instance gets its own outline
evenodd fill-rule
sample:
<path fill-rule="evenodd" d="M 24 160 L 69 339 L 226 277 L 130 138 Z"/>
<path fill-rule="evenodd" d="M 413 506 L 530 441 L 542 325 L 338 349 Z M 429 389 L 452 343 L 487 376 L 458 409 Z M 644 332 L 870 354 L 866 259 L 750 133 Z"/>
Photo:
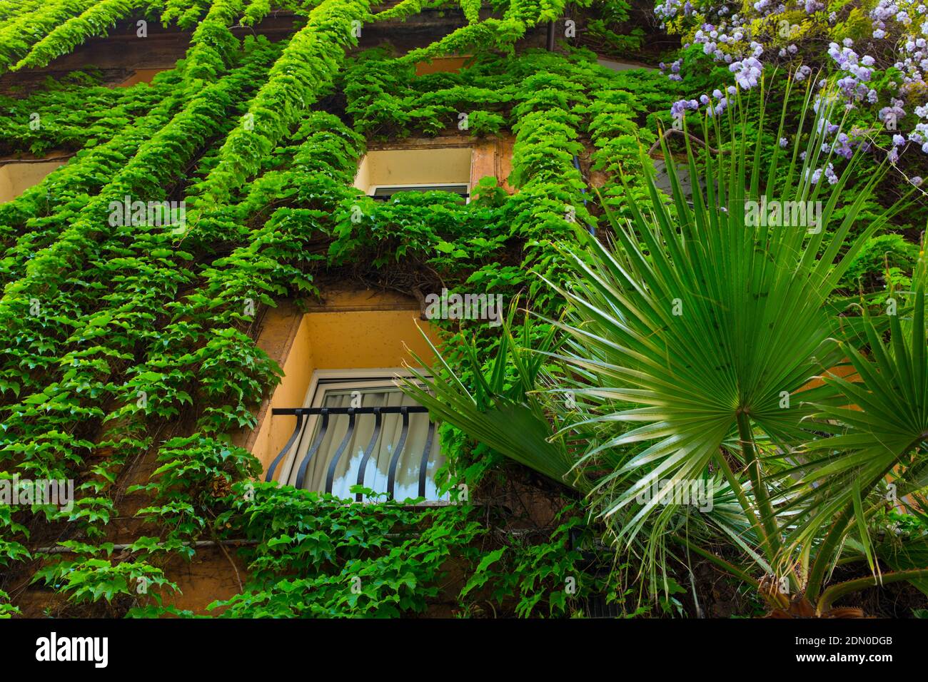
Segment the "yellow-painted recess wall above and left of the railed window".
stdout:
<path fill-rule="evenodd" d="M 292 341 L 281 363 L 284 378 L 264 405 L 258 427 L 246 445 L 261 461 L 263 470 L 277 457 L 296 425 L 294 417 L 275 417 L 271 409 L 302 407 L 316 369 L 414 364 L 406 347 L 432 364 L 432 349 L 422 339 L 417 324 L 436 345 L 438 337 L 427 321 L 419 319 L 418 307 L 406 303 L 404 308 L 397 309 L 389 296 L 360 298 L 348 294 L 303 315 L 291 333 Z"/>

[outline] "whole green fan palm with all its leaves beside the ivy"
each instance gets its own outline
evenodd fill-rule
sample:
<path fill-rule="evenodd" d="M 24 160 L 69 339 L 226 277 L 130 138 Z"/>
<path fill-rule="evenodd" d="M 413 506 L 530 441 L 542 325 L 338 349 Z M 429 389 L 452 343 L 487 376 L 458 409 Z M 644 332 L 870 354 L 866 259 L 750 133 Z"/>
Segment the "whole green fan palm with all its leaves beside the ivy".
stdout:
<path fill-rule="evenodd" d="M 683 135 L 691 199 L 662 135 L 672 202 L 649 173 L 651 200 L 629 201 L 630 220 L 607 212 L 612 245 L 564 247 L 574 277 L 548 284 L 569 306 L 544 320 L 561 336 L 529 353 L 505 326 L 490 380 L 470 352 L 473 394 L 447 365 L 425 380 L 428 391 L 406 386 L 436 417 L 586 495 L 612 538 L 642 554 L 652 585 L 669 540 L 754 585 L 773 606 L 798 594 L 821 612 L 843 594 L 838 586 L 822 592 L 822 580 L 844 540 L 860 534 L 870 557 L 867 509 L 887 473 L 910 470 L 928 433 L 923 297 L 913 297 L 909 345 L 898 341 L 896 317 L 885 351 L 881 321 L 838 315 L 833 295 L 848 265 L 903 204 L 855 233 L 886 168 L 862 173 L 858 149 L 826 191 L 815 169 L 830 168 L 829 141 L 840 133 L 830 134 L 831 118 L 841 104 L 831 88 L 816 93 L 808 84 L 797 142 L 780 148 L 792 89 L 788 82 L 775 136 L 765 132 L 763 86 L 753 97 L 739 93 L 724 120 L 703 121 L 702 139 L 724 139 L 721 152 L 708 142 L 696 152 Z M 851 199 L 842 203 L 845 190 Z M 795 209 L 804 207 L 815 211 L 802 219 Z M 522 338 L 530 336 L 526 327 Z M 860 382 L 832 376 L 848 358 Z M 886 421 L 887 410 L 896 419 Z M 699 514 L 682 507 L 675 491 L 700 481 L 719 501 L 737 500 L 740 513 L 730 504 Z M 681 519 L 695 532 L 681 532 Z M 717 556 L 709 537 L 725 538 L 748 565 Z"/>

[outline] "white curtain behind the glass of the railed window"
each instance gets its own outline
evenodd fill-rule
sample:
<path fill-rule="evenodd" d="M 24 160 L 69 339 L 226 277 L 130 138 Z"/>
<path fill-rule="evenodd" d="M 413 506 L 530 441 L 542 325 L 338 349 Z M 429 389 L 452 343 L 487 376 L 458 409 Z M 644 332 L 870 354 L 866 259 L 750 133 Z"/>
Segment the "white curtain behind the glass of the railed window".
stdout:
<path fill-rule="evenodd" d="M 323 387 L 320 386 L 320 390 Z M 352 392 L 361 392 L 361 406 L 363 407 L 394 407 L 401 405 L 417 405 L 406 393 L 397 388 L 358 386 L 353 389 L 329 389 L 322 396 L 322 407 L 350 407 Z M 399 444 L 403 431 L 403 416 L 400 414 L 385 414 L 380 416 L 380 435 L 374 444 L 374 449 L 367 459 L 363 485 L 378 493 L 387 491 L 387 478 L 390 471 L 390 462 L 393 453 Z M 306 468 L 303 479 L 303 488 L 323 492 L 326 489 L 326 477 L 329 465 L 335 457 L 339 445 L 342 444 L 350 417 L 348 415 L 329 415 L 329 428 L 316 454 L 313 455 Z M 364 451 L 370 443 L 374 433 L 376 417 L 372 414 L 354 415 L 354 431 L 342 451 L 339 462 L 335 468 L 335 477 L 332 482 L 332 494 L 340 497 L 354 498 L 350 488 L 357 483 L 358 470 Z M 322 428 L 321 416 L 316 419 L 313 429 L 303 429 L 303 437 L 294 444 L 295 457 L 291 459 L 292 467 L 288 483 L 296 484 L 296 479 L 303 457 L 316 440 L 316 434 Z M 312 432 L 310 432 L 312 431 Z M 393 496 L 398 500 L 419 496 L 419 465 L 422 453 L 429 438 L 429 415 L 426 412 L 409 414 L 409 429 L 406 432 L 406 443 L 396 465 L 396 478 L 393 484 Z M 435 486 L 435 472 L 444 464 L 441 456 L 439 438 L 436 430 L 432 430 L 432 443 L 429 446 L 429 457 L 426 466 L 425 498 L 437 499 L 438 491 Z"/>

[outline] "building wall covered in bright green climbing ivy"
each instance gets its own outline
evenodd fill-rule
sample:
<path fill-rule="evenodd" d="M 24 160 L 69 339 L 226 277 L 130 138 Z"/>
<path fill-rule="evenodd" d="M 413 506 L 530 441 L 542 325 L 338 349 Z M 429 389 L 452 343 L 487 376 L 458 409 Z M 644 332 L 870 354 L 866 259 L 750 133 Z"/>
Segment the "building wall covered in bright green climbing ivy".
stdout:
<path fill-rule="evenodd" d="M 567 614 L 603 589 L 621 601 L 621 573 L 608 587 L 585 573 L 579 547 L 592 534 L 572 496 L 458 431 L 442 434 L 447 480 L 467 483 L 469 498 L 425 510 L 252 483 L 260 466 L 229 436 L 255 426 L 279 380 L 254 341 L 264 306 L 327 282 L 479 290 L 558 315 L 539 275 L 557 281 L 557 244 L 599 223 L 585 174 L 605 179 L 599 190 L 621 212 L 614 174 L 634 173 L 637 139 L 654 140 L 651 115 L 669 109 L 675 84 L 584 51 L 513 52 L 561 16 L 557 3 L 480 19 L 465 2 L 467 25 L 431 45 L 351 57 L 359 25 L 432 5 L 404 0 L 371 17 L 366 0 L 288 3 L 303 24 L 276 43 L 230 30 L 258 24 L 266 2 L 14 5 L 23 11 L 0 16 L 10 70 L 45 66 L 116 19 L 160 15 L 194 32 L 186 58 L 150 85 L 110 89 L 87 71 L 3 98 L 5 153 L 76 154 L 0 206 L 0 471 L 73 479 L 78 499 L 0 507 L 0 613 L 34 590 L 61 598 L 28 599 L 33 614 L 36 603 L 184 613 L 161 606 L 176 586 L 165 567 L 216 547 L 247 565 L 240 594 L 211 611 L 225 615 L 412 614 L 449 595 L 465 615 Z M 462 71 L 415 76 L 421 59 L 478 47 Z M 460 113 L 474 139 L 515 136 L 513 195 L 488 181 L 467 204 L 357 196 L 367 140 L 460 135 Z M 183 200 L 186 223 L 112 225 L 110 203 L 125 197 Z M 488 351 L 498 342 L 493 328 L 443 324 L 452 362 L 458 335 Z"/>

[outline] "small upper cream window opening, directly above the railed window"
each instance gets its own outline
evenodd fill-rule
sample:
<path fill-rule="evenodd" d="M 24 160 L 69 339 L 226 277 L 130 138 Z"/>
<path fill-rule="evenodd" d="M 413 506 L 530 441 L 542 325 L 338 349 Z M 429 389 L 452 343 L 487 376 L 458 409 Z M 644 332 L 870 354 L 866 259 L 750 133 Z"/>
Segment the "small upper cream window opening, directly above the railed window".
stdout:
<path fill-rule="evenodd" d="M 354 187 L 374 199 L 397 192 L 452 192 L 470 197 L 470 147 L 378 149 L 358 166 Z"/>

